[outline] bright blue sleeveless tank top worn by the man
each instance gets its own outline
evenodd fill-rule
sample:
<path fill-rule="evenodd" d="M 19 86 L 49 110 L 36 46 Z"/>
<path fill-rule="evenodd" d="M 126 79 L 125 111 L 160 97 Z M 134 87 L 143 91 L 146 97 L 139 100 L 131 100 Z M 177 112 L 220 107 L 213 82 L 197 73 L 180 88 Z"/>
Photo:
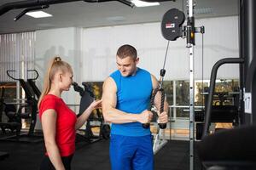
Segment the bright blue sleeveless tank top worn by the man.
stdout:
<path fill-rule="evenodd" d="M 151 75 L 148 71 L 137 68 L 136 74 L 130 77 L 122 77 L 119 71 L 114 71 L 110 77 L 117 86 L 116 109 L 140 114 L 148 108 L 153 89 Z M 150 129 L 143 128 L 140 122 L 112 123 L 111 133 L 124 136 L 146 136 L 150 134 Z"/>

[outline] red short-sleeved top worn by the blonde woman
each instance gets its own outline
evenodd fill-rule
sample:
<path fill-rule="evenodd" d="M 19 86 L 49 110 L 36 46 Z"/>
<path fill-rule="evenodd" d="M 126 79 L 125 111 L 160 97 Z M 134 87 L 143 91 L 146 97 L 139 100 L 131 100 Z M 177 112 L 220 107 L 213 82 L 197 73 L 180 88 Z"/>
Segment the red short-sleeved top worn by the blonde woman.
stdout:
<path fill-rule="evenodd" d="M 77 116 L 61 98 L 52 94 L 45 95 L 41 101 L 39 107 L 40 120 L 44 111 L 49 109 L 55 110 L 57 114 L 55 140 L 60 154 L 61 156 L 70 156 L 75 151 Z M 46 155 L 48 154 L 46 153 Z"/>

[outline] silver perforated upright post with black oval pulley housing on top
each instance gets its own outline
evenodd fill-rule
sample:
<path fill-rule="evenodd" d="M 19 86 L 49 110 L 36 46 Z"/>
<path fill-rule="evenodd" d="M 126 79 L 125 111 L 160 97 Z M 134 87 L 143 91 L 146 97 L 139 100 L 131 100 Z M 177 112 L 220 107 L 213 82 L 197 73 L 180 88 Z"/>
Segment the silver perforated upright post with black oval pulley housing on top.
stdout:
<path fill-rule="evenodd" d="M 189 48 L 189 169 L 194 169 L 194 140 L 195 140 L 195 78 L 194 78 L 194 46 L 195 33 L 205 32 L 204 26 L 195 27 L 194 7 L 195 1 L 188 0 L 188 18 L 187 26 L 181 26 L 183 23 L 183 14 L 177 9 L 166 12 L 162 20 L 163 36 L 167 40 L 175 41 L 177 37 L 187 38 L 187 48 Z M 170 15 L 169 15 L 170 14 Z M 168 18 L 169 17 L 169 18 Z M 173 24 L 172 24 L 173 23 Z M 181 28 L 182 27 L 182 28 Z M 166 30 L 172 31 L 166 31 Z M 182 32 L 182 33 L 181 33 Z M 172 34 L 172 35 L 168 35 Z"/>

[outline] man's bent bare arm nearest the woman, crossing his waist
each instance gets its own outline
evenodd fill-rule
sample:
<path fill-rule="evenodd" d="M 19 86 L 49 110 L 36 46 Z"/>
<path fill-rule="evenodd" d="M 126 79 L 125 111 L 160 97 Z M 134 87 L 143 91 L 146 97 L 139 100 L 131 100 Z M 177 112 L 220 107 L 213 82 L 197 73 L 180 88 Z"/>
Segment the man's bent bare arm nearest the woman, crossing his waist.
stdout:
<path fill-rule="evenodd" d="M 152 118 L 151 111 L 143 111 L 141 114 L 131 114 L 115 109 L 117 104 L 117 87 L 111 77 L 108 77 L 103 84 L 102 113 L 106 122 L 127 123 L 127 122 L 149 122 Z"/>

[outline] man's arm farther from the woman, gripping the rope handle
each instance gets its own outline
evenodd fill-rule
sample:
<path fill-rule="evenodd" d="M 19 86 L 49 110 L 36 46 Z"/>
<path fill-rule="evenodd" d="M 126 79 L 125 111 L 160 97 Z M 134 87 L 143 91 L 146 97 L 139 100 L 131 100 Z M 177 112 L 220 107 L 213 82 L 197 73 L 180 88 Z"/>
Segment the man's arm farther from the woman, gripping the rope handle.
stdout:
<path fill-rule="evenodd" d="M 158 81 L 157 79 L 151 75 L 151 80 L 152 80 L 152 85 L 153 85 L 153 88 L 158 88 Z M 161 105 L 161 92 L 158 91 L 157 94 L 155 94 L 155 97 L 154 97 L 154 106 L 157 108 L 157 111 L 158 111 L 158 115 L 159 115 L 159 118 L 160 118 L 160 123 L 166 123 L 168 122 L 168 110 L 169 110 L 169 104 L 167 103 L 166 101 L 166 98 L 165 98 L 165 102 L 164 102 L 164 111 L 162 113 L 160 113 L 160 105 Z"/>

